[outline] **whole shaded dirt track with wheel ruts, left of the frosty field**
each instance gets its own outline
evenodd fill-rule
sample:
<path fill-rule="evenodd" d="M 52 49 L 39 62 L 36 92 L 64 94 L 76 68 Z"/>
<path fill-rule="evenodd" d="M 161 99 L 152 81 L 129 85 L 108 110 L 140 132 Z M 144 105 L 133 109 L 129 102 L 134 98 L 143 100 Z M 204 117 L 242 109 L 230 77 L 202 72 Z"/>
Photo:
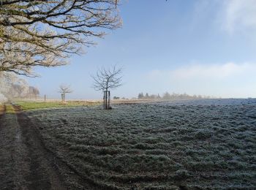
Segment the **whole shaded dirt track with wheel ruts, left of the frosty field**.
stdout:
<path fill-rule="evenodd" d="M 67 189 L 37 126 L 18 107 L 0 116 L 1 189 Z"/>

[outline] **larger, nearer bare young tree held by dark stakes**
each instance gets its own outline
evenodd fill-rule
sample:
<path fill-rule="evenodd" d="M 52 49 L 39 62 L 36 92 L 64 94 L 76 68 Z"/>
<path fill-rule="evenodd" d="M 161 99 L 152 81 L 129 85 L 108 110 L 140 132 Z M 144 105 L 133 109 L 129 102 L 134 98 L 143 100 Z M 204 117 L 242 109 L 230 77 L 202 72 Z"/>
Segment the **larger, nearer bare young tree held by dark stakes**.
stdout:
<path fill-rule="evenodd" d="M 94 80 L 93 88 L 97 91 L 103 91 L 104 109 L 110 110 L 110 89 L 122 86 L 121 83 L 121 68 L 110 66 L 98 69 L 96 75 L 91 76 Z"/>

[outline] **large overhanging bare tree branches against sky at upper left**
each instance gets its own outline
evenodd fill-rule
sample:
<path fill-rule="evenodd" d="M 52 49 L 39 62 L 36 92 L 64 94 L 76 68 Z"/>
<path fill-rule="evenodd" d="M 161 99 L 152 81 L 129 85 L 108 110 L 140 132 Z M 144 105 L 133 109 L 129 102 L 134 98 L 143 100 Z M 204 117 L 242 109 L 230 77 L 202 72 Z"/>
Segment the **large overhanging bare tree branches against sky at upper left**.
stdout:
<path fill-rule="evenodd" d="M 34 76 L 121 26 L 118 0 L 0 0 L 0 71 Z"/>

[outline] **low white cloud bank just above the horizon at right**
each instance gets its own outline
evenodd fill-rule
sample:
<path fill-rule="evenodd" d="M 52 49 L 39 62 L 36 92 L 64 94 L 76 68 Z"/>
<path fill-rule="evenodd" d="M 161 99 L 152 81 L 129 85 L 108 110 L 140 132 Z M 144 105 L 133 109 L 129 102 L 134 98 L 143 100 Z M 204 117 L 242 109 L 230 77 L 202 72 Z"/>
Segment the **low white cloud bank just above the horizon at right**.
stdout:
<path fill-rule="evenodd" d="M 256 63 L 189 64 L 148 72 L 157 91 L 222 97 L 256 97 Z"/>

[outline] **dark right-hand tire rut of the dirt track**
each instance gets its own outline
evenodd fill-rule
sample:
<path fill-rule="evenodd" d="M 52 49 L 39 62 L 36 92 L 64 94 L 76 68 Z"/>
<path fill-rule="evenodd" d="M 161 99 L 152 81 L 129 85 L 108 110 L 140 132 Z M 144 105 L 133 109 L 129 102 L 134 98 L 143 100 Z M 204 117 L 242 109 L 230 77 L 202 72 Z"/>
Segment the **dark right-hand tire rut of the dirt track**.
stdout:
<path fill-rule="evenodd" d="M 45 150 L 34 123 L 20 111 L 19 107 L 13 106 L 18 118 L 21 137 L 27 148 L 29 161 L 29 173 L 24 178 L 28 181 L 28 189 L 66 189 L 64 180 L 56 170 L 53 156 Z"/>

